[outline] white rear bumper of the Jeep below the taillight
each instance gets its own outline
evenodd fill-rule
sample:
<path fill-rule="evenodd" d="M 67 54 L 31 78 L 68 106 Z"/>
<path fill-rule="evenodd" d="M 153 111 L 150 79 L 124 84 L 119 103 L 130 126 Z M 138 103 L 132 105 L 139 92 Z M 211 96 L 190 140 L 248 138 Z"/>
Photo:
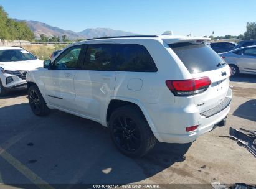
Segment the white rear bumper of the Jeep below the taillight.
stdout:
<path fill-rule="evenodd" d="M 211 131 L 227 117 L 230 111 L 230 99 L 232 98 L 232 90 L 230 88 L 226 98 L 228 99 L 222 106 L 219 104 L 219 106 L 204 114 L 200 113 L 199 109 L 194 105 L 187 107 L 173 107 L 171 104 L 148 105 L 147 109 L 152 119 L 154 136 L 159 142 L 167 143 L 189 143 L 195 141 L 197 137 Z M 198 125 L 196 131 L 186 132 L 186 127 L 196 125 Z"/>

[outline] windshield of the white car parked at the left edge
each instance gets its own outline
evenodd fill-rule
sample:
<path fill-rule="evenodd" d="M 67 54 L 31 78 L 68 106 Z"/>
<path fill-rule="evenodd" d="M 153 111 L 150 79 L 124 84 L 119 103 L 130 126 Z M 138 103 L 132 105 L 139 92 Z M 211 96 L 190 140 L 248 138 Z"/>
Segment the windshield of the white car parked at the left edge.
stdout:
<path fill-rule="evenodd" d="M 31 53 L 24 49 L 7 49 L 0 50 L 0 62 L 12 62 L 22 60 L 36 60 Z"/>

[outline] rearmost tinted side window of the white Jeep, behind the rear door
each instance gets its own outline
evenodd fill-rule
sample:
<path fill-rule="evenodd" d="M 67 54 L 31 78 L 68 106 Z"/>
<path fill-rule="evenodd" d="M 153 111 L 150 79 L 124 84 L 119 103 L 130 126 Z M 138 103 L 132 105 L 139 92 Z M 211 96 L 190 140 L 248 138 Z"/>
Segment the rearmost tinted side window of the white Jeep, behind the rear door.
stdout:
<path fill-rule="evenodd" d="M 153 58 L 143 45 L 115 44 L 116 71 L 155 72 Z"/>

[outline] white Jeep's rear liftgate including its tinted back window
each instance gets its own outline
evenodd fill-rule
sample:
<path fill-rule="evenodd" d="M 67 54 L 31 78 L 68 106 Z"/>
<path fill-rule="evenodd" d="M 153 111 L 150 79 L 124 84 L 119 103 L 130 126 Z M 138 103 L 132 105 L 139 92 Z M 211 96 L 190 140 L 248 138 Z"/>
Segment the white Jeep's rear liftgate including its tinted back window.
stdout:
<path fill-rule="evenodd" d="M 230 103 L 230 99 L 226 99 L 229 90 L 229 65 L 214 50 L 198 40 L 169 44 L 169 47 L 184 63 L 192 78 L 209 78 L 211 80 L 211 84 L 207 86 L 206 90 L 194 94 L 194 103 L 200 113 L 205 113 L 216 107 L 220 107 L 221 110 L 223 106 Z"/>

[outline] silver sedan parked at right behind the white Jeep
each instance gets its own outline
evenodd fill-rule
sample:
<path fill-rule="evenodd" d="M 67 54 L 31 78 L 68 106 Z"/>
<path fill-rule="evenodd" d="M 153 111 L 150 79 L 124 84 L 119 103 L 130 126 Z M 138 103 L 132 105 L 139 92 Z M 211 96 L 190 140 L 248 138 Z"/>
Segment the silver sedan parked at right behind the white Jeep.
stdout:
<path fill-rule="evenodd" d="M 231 69 L 231 75 L 239 73 L 256 75 L 256 45 L 237 48 L 225 53 L 219 53 Z"/>

